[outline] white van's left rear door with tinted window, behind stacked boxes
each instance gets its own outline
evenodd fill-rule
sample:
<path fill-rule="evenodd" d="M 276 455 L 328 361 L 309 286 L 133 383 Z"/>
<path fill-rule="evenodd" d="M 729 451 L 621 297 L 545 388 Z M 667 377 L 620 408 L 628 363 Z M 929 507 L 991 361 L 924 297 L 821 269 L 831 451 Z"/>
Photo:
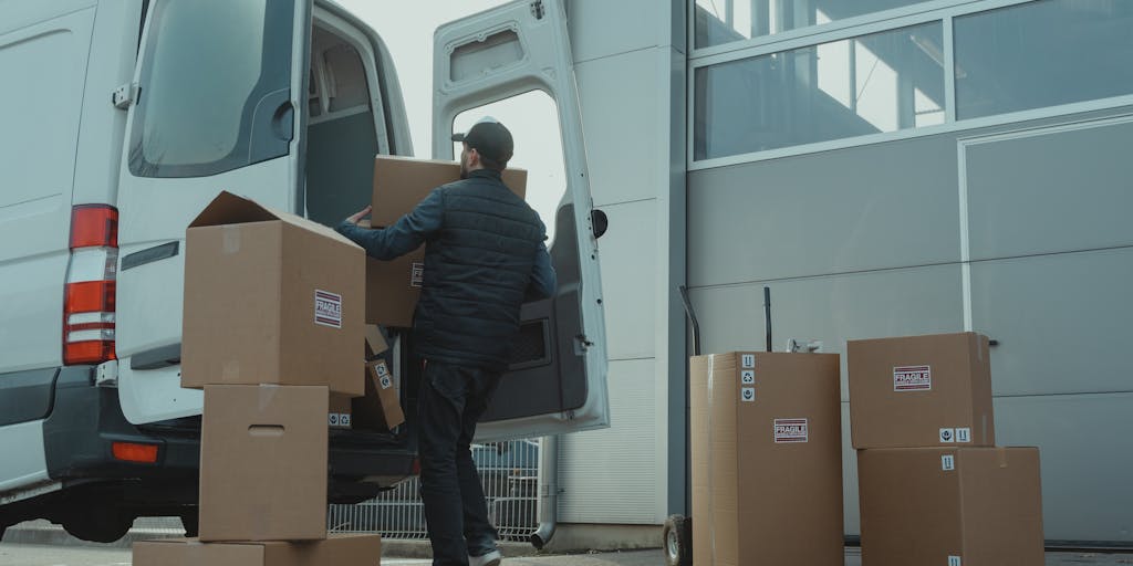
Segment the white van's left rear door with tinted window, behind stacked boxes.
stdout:
<path fill-rule="evenodd" d="M 119 170 L 118 392 L 134 423 L 198 414 L 180 388 L 185 229 L 220 191 L 303 214 L 312 0 L 150 3 Z"/>

